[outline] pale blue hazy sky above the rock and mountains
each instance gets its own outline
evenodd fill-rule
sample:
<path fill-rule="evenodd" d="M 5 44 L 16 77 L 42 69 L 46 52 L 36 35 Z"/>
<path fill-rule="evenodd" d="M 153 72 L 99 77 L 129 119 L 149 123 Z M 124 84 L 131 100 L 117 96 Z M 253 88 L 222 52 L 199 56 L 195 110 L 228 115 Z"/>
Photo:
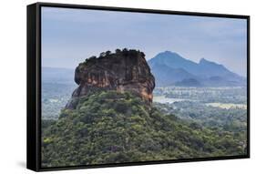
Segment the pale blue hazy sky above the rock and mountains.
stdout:
<path fill-rule="evenodd" d="M 150 59 L 166 50 L 204 57 L 246 76 L 246 20 L 43 7 L 44 67 L 75 68 L 89 56 L 134 48 Z"/>

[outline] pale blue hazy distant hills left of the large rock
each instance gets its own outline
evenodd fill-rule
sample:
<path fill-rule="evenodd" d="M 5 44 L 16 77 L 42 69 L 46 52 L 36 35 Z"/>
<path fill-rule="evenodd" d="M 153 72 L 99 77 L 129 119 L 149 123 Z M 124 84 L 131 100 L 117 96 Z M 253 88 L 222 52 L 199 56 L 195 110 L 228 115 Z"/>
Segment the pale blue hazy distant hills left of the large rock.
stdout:
<path fill-rule="evenodd" d="M 62 67 L 42 67 L 43 83 L 75 84 L 74 69 Z"/>

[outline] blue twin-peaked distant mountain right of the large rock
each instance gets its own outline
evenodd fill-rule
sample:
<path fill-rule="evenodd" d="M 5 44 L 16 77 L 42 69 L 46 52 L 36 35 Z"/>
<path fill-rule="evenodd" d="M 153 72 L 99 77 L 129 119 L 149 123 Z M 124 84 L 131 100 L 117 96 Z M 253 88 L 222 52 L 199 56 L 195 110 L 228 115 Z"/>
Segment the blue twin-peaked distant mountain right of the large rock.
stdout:
<path fill-rule="evenodd" d="M 189 84 L 192 87 L 197 85 L 210 87 L 246 85 L 245 77 L 205 58 L 200 59 L 200 63 L 195 63 L 177 53 L 165 51 L 148 60 L 148 65 L 156 77 L 158 87 L 188 86 Z"/>

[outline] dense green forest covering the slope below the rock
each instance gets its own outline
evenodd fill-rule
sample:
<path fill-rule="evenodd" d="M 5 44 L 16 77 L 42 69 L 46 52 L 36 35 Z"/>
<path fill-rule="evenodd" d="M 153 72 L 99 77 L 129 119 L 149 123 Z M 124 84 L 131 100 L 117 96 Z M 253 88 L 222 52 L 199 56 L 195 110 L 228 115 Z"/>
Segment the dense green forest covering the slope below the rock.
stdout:
<path fill-rule="evenodd" d="M 210 127 L 169 110 L 129 92 L 80 97 L 76 109 L 42 121 L 42 167 L 246 154 L 246 131 Z"/>

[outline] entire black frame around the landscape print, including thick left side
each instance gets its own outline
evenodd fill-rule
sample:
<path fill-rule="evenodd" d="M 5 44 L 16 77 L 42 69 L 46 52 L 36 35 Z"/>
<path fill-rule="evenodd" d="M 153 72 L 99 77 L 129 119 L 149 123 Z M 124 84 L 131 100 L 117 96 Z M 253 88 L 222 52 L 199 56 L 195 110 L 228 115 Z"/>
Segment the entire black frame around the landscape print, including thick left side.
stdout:
<path fill-rule="evenodd" d="M 72 9 L 91 9 L 104 11 L 135 12 L 166 15 L 191 15 L 204 17 L 224 17 L 247 20 L 247 154 L 241 156 L 226 156 L 198 159 L 170 159 L 156 161 L 139 161 L 128 163 L 80 165 L 65 167 L 41 167 L 41 8 L 58 7 Z M 141 9 L 96 5 L 68 5 L 55 3 L 36 3 L 27 5 L 27 126 L 26 126 L 26 168 L 35 171 L 50 171 L 61 169 L 95 169 L 106 167 L 125 167 L 150 164 L 167 164 L 177 162 L 209 161 L 222 159 L 250 158 L 250 15 L 228 15 L 199 12 L 182 12 L 156 9 Z"/>

